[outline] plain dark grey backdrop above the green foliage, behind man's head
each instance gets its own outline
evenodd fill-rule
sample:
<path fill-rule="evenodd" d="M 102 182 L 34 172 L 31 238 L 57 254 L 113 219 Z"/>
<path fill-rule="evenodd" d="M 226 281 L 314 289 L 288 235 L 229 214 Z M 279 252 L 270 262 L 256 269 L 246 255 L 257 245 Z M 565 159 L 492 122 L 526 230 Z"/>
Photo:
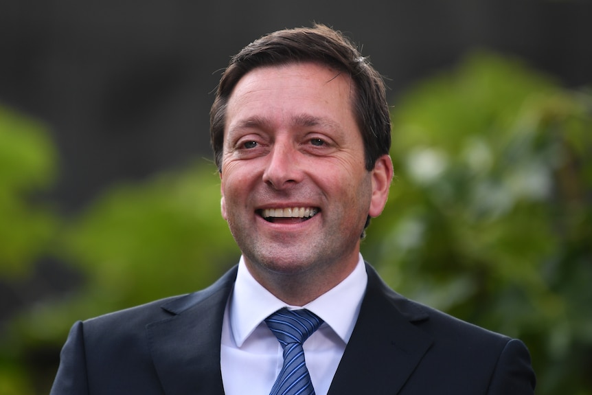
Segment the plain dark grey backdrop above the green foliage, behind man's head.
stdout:
<path fill-rule="evenodd" d="M 389 94 L 488 48 L 564 84 L 591 80 L 589 1 L 64 1 L 0 3 L 0 101 L 49 122 L 54 191 L 78 210 L 114 181 L 211 157 L 209 106 L 229 56 L 313 21 L 342 30 Z"/>

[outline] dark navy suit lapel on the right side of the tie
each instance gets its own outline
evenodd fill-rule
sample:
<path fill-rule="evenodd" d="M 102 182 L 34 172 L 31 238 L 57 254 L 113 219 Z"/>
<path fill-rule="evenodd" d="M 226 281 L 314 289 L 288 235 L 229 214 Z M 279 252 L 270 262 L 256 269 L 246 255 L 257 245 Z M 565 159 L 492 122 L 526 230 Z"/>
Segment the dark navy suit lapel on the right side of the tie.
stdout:
<path fill-rule="evenodd" d="M 360 315 L 328 395 L 397 394 L 433 341 L 411 324 L 427 314 L 366 271 Z"/>

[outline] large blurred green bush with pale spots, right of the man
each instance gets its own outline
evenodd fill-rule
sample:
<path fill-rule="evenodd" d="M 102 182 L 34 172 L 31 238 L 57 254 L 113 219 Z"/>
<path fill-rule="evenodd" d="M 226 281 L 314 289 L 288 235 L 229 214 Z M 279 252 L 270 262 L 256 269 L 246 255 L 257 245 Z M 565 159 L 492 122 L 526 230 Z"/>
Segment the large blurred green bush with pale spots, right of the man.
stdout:
<path fill-rule="evenodd" d="M 592 96 L 475 54 L 402 95 L 363 252 L 397 291 L 520 337 L 538 394 L 592 394 Z"/>

